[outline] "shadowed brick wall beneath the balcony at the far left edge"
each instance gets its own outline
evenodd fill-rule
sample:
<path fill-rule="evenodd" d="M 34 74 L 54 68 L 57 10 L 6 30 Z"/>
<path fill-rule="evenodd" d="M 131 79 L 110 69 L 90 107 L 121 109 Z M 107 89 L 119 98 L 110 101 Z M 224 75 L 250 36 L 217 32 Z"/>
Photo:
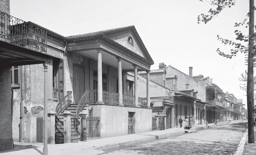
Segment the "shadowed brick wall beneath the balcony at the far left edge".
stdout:
<path fill-rule="evenodd" d="M 0 68 L 0 151 L 12 149 L 12 95 L 10 67 Z"/>

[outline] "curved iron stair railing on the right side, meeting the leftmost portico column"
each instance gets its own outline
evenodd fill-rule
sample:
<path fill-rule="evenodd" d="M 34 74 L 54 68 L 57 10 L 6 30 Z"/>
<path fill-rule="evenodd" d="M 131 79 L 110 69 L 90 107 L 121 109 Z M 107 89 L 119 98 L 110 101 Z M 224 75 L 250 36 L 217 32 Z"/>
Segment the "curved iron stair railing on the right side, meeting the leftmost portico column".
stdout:
<path fill-rule="evenodd" d="M 97 90 L 86 90 L 82 98 L 77 105 L 76 115 L 78 116 L 82 112 L 86 104 L 92 104 L 97 102 Z"/>

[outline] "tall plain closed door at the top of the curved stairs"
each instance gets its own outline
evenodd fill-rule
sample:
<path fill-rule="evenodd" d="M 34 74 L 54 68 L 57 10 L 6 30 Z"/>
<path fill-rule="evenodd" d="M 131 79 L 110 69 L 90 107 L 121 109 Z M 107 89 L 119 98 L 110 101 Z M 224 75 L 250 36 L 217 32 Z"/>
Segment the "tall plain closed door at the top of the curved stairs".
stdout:
<path fill-rule="evenodd" d="M 79 103 L 83 96 L 84 90 L 84 67 L 75 65 L 73 66 L 73 90 L 75 103 Z"/>

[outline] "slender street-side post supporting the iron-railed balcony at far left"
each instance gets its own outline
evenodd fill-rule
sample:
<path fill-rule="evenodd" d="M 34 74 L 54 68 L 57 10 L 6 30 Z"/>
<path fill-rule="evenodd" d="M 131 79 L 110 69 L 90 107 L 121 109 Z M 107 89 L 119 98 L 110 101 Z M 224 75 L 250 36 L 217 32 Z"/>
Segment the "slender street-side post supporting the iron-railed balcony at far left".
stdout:
<path fill-rule="evenodd" d="M 48 118 L 48 97 L 47 97 L 47 62 L 44 62 L 44 148 L 43 148 L 43 155 L 48 155 L 48 147 L 47 147 L 47 139 L 48 139 L 48 132 L 47 132 L 47 118 Z"/>

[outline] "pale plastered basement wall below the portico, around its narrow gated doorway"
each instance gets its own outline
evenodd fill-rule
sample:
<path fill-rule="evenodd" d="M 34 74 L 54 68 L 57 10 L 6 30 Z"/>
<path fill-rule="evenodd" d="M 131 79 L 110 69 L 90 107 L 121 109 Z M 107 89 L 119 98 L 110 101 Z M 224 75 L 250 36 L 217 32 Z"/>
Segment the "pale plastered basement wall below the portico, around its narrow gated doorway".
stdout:
<path fill-rule="evenodd" d="M 128 112 L 135 112 L 135 133 L 152 131 L 152 109 L 118 105 L 93 105 L 92 115 L 100 116 L 101 138 L 128 134 Z"/>

